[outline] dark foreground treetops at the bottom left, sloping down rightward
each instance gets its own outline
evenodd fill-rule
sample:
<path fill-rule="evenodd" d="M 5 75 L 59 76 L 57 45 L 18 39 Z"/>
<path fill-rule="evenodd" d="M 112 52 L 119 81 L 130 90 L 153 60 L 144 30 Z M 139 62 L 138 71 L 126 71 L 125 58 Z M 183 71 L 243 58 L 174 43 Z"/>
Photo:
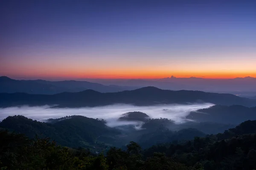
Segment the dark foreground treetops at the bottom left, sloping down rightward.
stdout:
<path fill-rule="evenodd" d="M 0 144 L 2 170 L 147 170 L 158 158 L 155 156 L 143 161 L 140 146 L 135 142 L 128 144 L 126 151 L 111 148 L 107 156 L 77 156 L 69 148 L 50 142 L 49 138 L 29 140 L 7 131 L 0 131 Z M 188 169 L 166 157 L 158 164 L 166 169 Z M 151 167 L 150 170 L 159 170 L 159 167 Z"/>

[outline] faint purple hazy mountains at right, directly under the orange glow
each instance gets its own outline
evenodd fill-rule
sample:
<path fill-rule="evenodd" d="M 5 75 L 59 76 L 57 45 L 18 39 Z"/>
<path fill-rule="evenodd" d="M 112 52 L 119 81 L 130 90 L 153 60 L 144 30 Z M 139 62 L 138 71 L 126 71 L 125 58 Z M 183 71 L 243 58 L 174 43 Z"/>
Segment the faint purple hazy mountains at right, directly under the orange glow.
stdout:
<path fill-rule="evenodd" d="M 160 89 L 171 90 L 200 90 L 206 92 L 227 92 L 234 95 L 241 95 L 241 92 L 248 92 L 245 95 L 256 95 L 256 78 L 232 78 L 232 79 L 209 79 L 209 78 L 169 78 L 158 79 L 81 79 L 104 85 L 116 84 L 119 86 L 155 86 Z M 253 95 L 250 93 L 253 92 Z M 245 96 L 244 95 L 244 96 Z"/>

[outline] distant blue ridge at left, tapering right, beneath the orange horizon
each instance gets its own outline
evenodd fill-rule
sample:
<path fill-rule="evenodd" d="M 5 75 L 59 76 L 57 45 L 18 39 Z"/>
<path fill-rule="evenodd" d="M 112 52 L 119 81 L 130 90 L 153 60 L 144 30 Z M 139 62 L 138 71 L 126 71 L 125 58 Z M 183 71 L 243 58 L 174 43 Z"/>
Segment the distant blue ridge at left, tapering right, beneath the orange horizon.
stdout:
<path fill-rule="evenodd" d="M 128 86 L 105 86 L 87 81 L 45 81 L 45 80 L 14 80 L 6 76 L 0 77 L 0 92 L 24 92 L 29 94 L 57 94 L 61 92 L 81 92 L 93 89 L 98 92 L 119 92 L 136 89 Z"/>

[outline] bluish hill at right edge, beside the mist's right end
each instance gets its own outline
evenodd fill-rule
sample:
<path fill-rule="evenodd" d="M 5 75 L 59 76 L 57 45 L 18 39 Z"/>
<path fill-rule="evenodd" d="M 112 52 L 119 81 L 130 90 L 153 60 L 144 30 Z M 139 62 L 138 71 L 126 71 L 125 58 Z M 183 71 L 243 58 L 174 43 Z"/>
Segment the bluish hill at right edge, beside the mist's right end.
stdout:
<path fill-rule="evenodd" d="M 224 124 L 240 124 L 242 121 L 256 119 L 256 107 L 215 105 L 191 112 L 187 118 L 198 122 L 212 121 Z"/>

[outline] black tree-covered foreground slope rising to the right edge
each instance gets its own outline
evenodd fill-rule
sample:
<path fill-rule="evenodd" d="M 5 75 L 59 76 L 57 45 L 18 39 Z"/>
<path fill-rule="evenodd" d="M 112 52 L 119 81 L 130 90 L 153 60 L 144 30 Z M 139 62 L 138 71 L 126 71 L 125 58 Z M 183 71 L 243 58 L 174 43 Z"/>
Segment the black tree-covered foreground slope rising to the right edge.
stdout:
<path fill-rule="evenodd" d="M 143 151 L 145 157 L 162 153 L 189 166 L 202 170 L 255 170 L 256 121 L 245 121 L 217 135 L 195 137 L 185 142 L 158 144 Z"/>

